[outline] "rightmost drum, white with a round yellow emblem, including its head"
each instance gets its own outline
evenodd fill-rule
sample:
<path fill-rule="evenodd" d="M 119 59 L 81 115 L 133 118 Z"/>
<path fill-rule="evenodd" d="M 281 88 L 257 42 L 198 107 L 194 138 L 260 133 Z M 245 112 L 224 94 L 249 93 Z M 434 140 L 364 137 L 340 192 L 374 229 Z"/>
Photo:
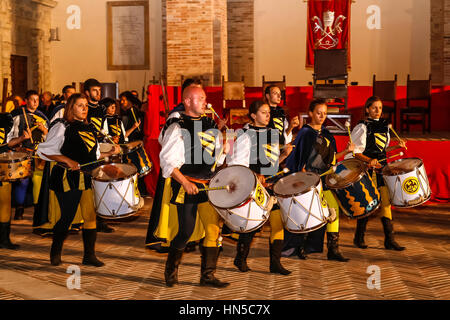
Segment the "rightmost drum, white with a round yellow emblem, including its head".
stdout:
<path fill-rule="evenodd" d="M 409 208 L 430 199 L 430 184 L 421 159 L 393 161 L 383 168 L 382 173 L 392 205 Z"/>

